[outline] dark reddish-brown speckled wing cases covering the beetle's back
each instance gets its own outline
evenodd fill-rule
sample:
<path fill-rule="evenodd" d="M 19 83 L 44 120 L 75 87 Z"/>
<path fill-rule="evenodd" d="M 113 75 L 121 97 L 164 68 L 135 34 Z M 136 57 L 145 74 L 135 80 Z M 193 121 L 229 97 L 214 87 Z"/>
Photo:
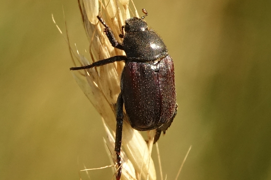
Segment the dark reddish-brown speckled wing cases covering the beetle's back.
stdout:
<path fill-rule="evenodd" d="M 173 60 L 128 62 L 122 74 L 121 91 L 129 122 L 139 131 L 159 128 L 172 118 L 176 108 Z"/>

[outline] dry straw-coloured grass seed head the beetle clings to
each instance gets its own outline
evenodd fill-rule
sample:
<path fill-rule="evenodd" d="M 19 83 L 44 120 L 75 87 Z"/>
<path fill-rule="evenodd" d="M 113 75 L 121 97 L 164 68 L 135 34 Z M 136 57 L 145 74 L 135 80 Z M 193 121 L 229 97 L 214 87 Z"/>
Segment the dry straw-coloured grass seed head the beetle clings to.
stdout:
<path fill-rule="evenodd" d="M 102 16 L 107 25 L 113 30 L 117 40 L 121 42 L 122 39 L 117 35 L 121 33 L 121 26 L 124 24 L 125 19 L 130 18 L 128 2 L 128 0 L 105 0 L 104 3 L 98 0 L 83 0 L 83 2 L 80 2 L 79 7 L 83 23 L 90 42 L 89 52 L 92 62 L 115 55 L 125 55 L 123 51 L 111 46 L 103 32 L 104 27 L 98 22 L 96 16 Z M 101 4 L 99 5 L 99 3 Z M 136 10 L 135 14 L 138 14 Z M 82 66 L 91 63 L 79 53 L 78 57 Z M 114 138 L 112 140 L 112 137 L 115 137 L 114 131 L 116 129 L 115 104 L 120 93 L 120 76 L 123 67 L 123 62 L 114 62 L 97 68 L 72 71 L 76 82 L 106 123 L 106 125 L 104 124 L 107 132 L 106 144 L 114 157 L 113 161 L 115 161 L 115 140 Z M 148 149 L 141 134 L 129 125 L 126 115 L 124 117 L 122 145 L 125 154 L 123 151 L 121 152 L 123 162 L 121 179 L 155 180 L 156 173 L 150 157 L 151 149 Z M 108 131 L 107 126 L 113 132 Z M 152 137 L 153 135 L 150 139 Z M 151 143 L 151 140 L 149 142 Z"/>

